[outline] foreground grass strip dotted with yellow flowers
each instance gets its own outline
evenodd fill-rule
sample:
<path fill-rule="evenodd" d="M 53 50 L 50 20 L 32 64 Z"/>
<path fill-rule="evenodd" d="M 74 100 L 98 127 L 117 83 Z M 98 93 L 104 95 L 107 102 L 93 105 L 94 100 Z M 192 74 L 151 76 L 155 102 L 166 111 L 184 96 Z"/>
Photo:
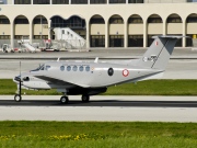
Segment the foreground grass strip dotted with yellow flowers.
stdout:
<path fill-rule="evenodd" d="M 197 124 L 0 122 L 0 147 L 196 148 Z"/>

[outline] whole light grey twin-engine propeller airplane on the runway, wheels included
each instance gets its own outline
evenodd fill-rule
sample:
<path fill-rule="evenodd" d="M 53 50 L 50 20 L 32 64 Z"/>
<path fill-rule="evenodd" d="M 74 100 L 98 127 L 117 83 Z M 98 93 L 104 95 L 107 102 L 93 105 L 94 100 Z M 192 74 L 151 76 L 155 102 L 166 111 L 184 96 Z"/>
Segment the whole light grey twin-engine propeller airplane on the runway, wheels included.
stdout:
<path fill-rule="evenodd" d="M 18 83 L 14 100 L 20 102 L 21 88 L 33 90 L 57 89 L 62 92 L 61 103 L 68 95 L 82 94 L 89 102 L 90 95 L 103 93 L 108 87 L 161 77 L 177 39 L 183 36 L 154 36 L 152 45 L 140 59 L 125 61 L 50 61 L 35 70 L 13 79 Z"/>

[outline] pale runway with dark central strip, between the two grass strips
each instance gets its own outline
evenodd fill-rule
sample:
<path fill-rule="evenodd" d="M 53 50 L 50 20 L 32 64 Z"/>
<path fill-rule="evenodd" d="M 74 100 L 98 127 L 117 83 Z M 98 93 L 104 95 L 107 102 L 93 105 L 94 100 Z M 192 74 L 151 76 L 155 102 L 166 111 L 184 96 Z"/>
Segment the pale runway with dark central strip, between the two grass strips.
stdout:
<path fill-rule="evenodd" d="M 70 96 L 28 96 L 16 103 L 13 96 L 0 96 L 0 121 L 106 121 L 106 122 L 195 122 L 196 96 L 92 96 L 82 103 Z"/>

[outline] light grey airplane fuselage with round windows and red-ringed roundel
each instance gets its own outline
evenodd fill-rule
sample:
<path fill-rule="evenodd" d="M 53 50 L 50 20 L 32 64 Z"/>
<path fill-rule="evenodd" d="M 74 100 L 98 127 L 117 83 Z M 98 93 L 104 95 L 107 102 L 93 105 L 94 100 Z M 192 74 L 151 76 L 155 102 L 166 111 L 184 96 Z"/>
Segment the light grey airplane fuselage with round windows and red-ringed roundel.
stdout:
<path fill-rule="evenodd" d="M 161 72 L 163 70 L 125 64 L 51 61 L 22 73 L 21 79 L 23 87 L 28 89 L 104 88 L 143 80 Z"/>

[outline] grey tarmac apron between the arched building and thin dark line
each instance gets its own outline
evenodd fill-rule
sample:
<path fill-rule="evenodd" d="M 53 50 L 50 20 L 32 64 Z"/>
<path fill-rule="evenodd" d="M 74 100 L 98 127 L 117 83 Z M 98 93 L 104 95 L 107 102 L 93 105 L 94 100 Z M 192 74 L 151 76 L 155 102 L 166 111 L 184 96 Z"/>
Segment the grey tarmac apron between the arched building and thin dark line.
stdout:
<path fill-rule="evenodd" d="M 91 49 L 90 52 L 40 52 L 40 53 L 0 53 L 0 59 L 132 59 L 141 57 L 147 48 L 139 49 Z M 196 59 L 197 49 L 175 48 L 171 59 Z"/>

